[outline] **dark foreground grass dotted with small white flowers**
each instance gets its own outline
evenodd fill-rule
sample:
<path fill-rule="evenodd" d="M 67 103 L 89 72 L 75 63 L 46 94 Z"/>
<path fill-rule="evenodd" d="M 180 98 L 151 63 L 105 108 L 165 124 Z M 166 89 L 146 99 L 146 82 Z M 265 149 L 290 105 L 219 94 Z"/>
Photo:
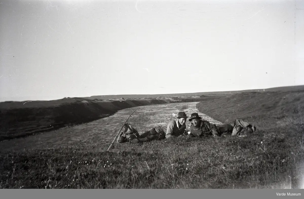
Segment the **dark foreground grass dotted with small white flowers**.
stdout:
<path fill-rule="evenodd" d="M 301 188 L 303 130 L 5 152 L 0 188 Z"/>

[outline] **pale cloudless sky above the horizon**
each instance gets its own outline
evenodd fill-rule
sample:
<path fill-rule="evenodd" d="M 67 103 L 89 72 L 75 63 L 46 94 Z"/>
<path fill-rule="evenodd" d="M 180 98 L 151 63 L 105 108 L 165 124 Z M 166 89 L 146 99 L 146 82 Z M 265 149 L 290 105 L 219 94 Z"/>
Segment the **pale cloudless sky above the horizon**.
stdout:
<path fill-rule="evenodd" d="M 1 0 L 0 101 L 303 85 L 302 5 Z"/>

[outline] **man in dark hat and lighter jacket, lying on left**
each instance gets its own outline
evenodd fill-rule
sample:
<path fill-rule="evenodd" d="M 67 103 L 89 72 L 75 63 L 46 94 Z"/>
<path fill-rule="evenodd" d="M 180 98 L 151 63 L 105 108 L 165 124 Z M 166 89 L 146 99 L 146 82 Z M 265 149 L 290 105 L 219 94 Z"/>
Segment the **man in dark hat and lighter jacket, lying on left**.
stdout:
<path fill-rule="evenodd" d="M 146 131 L 140 135 L 140 138 L 145 138 L 149 135 L 160 135 L 162 138 L 171 138 L 172 136 L 184 135 L 186 131 L 186 119 L 187 115 L 185 112 L 179 112 L 178 117 L 174 120 L 169 121 L 163 126 L 157 126 L 152 128 L 150 131 Z"/>

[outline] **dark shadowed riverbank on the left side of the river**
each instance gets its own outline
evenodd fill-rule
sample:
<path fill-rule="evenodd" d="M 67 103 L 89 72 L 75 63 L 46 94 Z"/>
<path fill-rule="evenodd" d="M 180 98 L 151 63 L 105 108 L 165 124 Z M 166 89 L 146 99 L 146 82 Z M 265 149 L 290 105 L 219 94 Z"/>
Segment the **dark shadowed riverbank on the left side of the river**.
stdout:
<path fill-rule="evenodd" d="M 126 100 L 64 98 L 51 101 L 2 102 L 0 103 L 0 141 L 91 122 L 131 107 L 198 102 L 217 98 L 219 97 L 180 96 Z"/>

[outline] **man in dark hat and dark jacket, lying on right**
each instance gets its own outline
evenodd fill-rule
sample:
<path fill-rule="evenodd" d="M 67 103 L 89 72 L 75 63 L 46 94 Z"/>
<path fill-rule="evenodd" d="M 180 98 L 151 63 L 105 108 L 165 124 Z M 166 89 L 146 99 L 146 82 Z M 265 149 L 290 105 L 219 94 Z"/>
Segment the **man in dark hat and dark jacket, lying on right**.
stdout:
<path fill-rule="evenodd" d="M 216 125 L 210 124 L 206 120 L 202 120 L 202 118 L 199 117 L 199 114 L 192 113 L 189 121 L 192 122 L 188 131 L 188 134 L 190 136 L 204 137 L 213 135 L 213 137 L 215 138 L 219 136 L 219 132 L 217 131 Z"/>

